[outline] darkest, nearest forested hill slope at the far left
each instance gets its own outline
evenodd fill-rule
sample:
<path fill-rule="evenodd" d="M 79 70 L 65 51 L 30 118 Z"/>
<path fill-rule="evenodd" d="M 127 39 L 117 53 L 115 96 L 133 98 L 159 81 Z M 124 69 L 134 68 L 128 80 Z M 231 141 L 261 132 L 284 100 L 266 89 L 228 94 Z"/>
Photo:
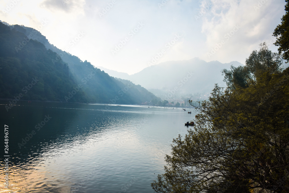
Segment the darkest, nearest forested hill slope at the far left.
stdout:
<path fill-rule="evenodd" d="M 22 93 L 22 100 L 64 101 L 64 96 L 76 86 L 69 77 L 67 64 L 62 60 L 53 63 L 56 53 L 2 23 L 0 50 L 1 98 Z M 33 78 L 38 80 L 35 85 L 31 84 Z M 74 100 L 85 102 L 86 99 L 75 95 Z"/>

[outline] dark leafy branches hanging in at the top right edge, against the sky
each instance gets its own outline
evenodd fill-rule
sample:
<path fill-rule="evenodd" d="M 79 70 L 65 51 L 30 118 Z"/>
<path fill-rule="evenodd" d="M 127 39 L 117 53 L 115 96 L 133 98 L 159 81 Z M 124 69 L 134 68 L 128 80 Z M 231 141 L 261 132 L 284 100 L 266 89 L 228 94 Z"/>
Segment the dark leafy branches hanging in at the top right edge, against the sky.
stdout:
<path fill-rule="evenodd" d="M 283 53 L 283 58 L 289 60 L 289 39 L 288 39 L 288 32 L 289 32 L 289 5 L 288 0 L 286 0 L 285 5 L 286 14 L 283 15 L 281 19 L 281 24 L 277 25 L 273 35 L 277 37 L 275 42 L 276 46 L 279 46 L 278 51 L 279 54 Z"/>

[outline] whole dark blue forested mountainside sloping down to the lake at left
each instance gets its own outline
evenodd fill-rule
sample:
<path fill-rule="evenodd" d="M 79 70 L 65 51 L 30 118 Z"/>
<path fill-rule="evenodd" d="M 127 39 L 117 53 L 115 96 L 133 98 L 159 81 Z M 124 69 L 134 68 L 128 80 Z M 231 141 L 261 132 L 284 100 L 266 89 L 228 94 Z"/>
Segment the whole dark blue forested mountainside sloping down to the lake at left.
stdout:
<path fill-rule="evenodd" d="M 63 52 L 30 27 L 0 23 L 0 62 L 1 98 L 22 93 L 21 99 L 63 102 L 141 104 L 159 100 L 153 94 L 144 97 L 142 87 L 126 85 Z M 23 93 L 22 88 L 35 77 L 39 81 Z"/>

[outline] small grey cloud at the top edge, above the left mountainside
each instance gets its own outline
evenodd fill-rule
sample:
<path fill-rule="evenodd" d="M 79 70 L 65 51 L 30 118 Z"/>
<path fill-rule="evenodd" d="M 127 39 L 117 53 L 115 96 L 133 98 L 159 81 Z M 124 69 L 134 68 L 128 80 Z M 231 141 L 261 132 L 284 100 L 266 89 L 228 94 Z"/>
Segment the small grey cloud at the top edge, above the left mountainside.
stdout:
<path fill-rule="evenodd" d="M 47 8 L 52 12 L 63 10 L 67 13 L 83 13 L 85 0 L 45 0 L 40 4 L 41 8 Z"/>

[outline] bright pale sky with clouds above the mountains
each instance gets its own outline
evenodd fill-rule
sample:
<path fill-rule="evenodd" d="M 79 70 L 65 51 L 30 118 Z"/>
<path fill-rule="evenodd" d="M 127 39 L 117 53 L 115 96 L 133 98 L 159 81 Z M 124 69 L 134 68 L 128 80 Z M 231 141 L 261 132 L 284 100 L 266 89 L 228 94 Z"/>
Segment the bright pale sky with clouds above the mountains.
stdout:
<path fill-rule="evenodd" d="M 0 20 L 33 27 L 94 66 L 134 74 L 198 57 L 245 64 L 272 43 L 285 0 L 1 0 Z"/>

